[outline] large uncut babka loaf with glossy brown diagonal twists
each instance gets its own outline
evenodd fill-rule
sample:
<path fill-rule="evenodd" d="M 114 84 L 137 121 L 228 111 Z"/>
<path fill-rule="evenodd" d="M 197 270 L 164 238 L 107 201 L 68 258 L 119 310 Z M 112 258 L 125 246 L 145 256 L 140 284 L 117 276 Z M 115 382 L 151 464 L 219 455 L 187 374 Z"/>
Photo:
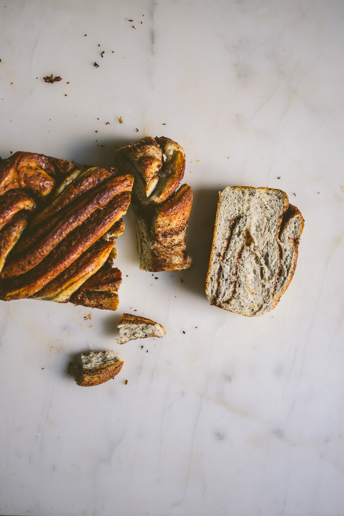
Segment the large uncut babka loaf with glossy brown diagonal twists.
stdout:
<path fill-rule="evenodd" d="M 133 176 L 16 152 L 0 162 L 0 299 L 115 310 Z M 91 281 L 92 278 L 92 281 Z"/>

